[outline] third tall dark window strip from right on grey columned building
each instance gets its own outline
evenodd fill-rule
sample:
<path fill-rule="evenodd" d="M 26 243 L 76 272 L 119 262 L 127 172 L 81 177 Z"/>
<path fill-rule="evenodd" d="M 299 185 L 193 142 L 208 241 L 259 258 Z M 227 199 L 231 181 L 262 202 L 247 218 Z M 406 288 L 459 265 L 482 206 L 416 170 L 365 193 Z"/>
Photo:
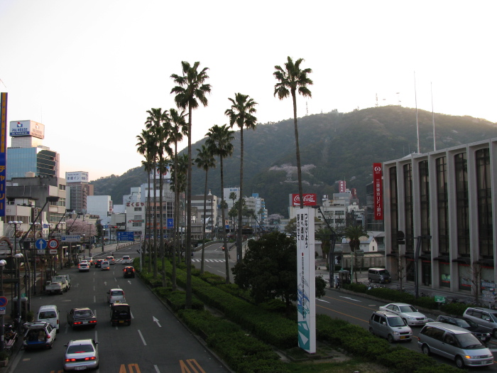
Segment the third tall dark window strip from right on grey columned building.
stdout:
<path fill-rule="evenodd" d="M 449 254 L 449 196 L 447 194 L 447 158 L 435 161 L 437 168 L 437 220 L 439 254 Z"/>

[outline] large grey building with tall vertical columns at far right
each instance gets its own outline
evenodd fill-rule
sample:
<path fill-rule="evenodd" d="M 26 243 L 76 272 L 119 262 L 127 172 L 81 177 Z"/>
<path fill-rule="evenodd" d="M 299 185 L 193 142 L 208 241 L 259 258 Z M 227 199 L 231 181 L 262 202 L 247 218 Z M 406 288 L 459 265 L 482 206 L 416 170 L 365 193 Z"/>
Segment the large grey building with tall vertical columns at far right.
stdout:
<path fill-rule="evenodd" d="M 473 294 L 495 288 L 496 195 L 497 138 L 383 163 L 392 276 Z"/>

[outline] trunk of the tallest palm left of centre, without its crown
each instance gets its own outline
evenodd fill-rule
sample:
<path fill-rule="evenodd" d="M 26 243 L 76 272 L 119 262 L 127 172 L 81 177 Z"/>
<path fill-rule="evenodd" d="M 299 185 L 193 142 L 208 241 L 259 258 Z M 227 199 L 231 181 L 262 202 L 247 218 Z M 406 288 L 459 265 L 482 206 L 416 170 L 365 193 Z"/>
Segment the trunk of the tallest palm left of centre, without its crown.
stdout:
<path fill-rule="evenodd" d="M 192 308 L 192 105 L 188 104 L 188 166 L 187 166 L 187 232 L 185 264 L 187 266 L 187 283 L 185 308 Z"/>

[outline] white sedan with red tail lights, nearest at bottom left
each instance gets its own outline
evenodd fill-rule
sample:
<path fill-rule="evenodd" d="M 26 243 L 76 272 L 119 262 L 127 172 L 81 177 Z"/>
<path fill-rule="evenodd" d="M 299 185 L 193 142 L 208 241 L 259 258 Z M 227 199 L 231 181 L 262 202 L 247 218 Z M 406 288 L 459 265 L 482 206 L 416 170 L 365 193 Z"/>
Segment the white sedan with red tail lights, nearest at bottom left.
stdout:
<path fill-rule="evenodd" d="M 95 340 L 71 340 L 65 345 L 64 371 L 98 369 L 99 342 Z"/>

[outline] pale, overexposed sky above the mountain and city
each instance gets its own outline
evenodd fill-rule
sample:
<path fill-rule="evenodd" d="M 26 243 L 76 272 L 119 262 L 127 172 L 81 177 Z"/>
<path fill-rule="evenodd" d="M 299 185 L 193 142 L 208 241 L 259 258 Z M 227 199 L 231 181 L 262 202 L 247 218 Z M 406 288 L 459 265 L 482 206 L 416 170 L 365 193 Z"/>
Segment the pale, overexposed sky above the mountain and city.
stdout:
<path fill-rule="evenodd" d="M 90 180 L 141 165 L 136 136 L 147 110 L 175 108 L 182 60 L 208 67 L 212 86 L 192 143 L 228 123 L 236 92 L 261 124 L 293 117 L 291 98 L 273 95 L 288 56 L 312 69 L 298 117 L 417 104 L 497 122 L 496 11 L 493 0 L 0 0 L 0 92 L 8 121 L 45 125 L 61 177 Z"/>

